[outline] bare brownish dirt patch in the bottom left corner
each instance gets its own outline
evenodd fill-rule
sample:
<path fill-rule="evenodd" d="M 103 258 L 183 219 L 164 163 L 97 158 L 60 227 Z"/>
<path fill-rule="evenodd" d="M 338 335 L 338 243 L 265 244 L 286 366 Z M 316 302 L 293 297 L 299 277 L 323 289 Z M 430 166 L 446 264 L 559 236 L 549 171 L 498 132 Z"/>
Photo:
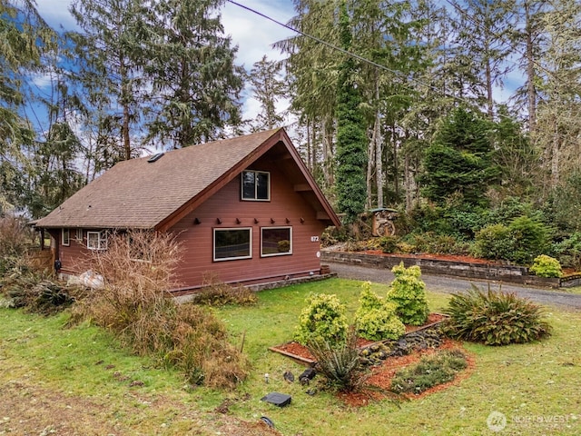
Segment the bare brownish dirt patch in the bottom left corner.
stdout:
<path fill-rule="evenodd" d="M 177 434 L 172 424 L 162 423 L 153 431 L 151 422 L 139 418 L 143 408 L 172 411 L 187 434 L 231 436 L 280 435 L 263 421 L 241 421 L 222 413 L 193 411 L 191 404 L 162 395 L 127 391 L 123 404 L 111 399 L 89 399 L 64 391 L 50 390 L 42 381 L 22 378 L 0 383 L 0 434 L 59 436 L 101 436 L 130 434 Z M 124 418 L 123 418 L 124 417 Z M 129 423 L 132 422 L 132 423 Z M 145 428 L 142 427 L 145 425 Z M 153 424 L 154 425 L 154 424 Z M 184 434 L 184 433 L 181 433 Z"/>

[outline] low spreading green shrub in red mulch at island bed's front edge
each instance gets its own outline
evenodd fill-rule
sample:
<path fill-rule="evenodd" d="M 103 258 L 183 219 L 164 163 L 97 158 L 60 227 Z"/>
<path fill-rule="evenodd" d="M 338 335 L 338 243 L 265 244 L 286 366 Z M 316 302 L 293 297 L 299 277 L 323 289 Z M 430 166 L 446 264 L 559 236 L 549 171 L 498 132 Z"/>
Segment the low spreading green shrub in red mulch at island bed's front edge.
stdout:
<path fill-rule="evenodd" d="M 466 356 L 458 351 L 438 352 L 422 357 L 418 364 L 396 372 L 390 390 L 396 393 L 419 394 L 438 384 L 454 380 L 456 374 L 468 367 Z"/>

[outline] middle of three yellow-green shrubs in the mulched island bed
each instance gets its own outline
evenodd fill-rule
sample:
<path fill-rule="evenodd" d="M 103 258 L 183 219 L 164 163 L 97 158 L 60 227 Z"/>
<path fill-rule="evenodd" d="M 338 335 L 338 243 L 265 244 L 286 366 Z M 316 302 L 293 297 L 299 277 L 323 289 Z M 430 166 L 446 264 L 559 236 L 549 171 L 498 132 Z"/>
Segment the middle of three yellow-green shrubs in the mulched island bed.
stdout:
<path fill-rule="evenodd" d="M 369 341 L 398 339 L 406 327 L 396 314 L 396 305 L 386 302 L 371 291 L 371 283 L 361 285 L 359 308 L 355 312 L 355 323 L 359 336 Z"/>

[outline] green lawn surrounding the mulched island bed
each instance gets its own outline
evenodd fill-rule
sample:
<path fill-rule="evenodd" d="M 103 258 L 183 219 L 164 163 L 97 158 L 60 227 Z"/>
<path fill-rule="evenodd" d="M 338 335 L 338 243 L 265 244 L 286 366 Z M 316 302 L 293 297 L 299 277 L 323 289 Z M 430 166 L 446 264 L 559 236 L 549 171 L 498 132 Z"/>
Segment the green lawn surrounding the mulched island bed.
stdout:
<path fill-rule="evenodd" d="M 155 369 L 151 362 L 130 356 L 94 327 L 63 329 L 64 315 L 42 318 L 0 309 L 0 386 L 14 380 L 34 381 L 64 396 L 94 401 L 101 408 L 96 409 L 97 415 L 103 415 L 95 419 L 122 429 L 118 431 L 122 434 L 123 430 L 188 434 L 187 425 L 190 434 L 216 434 L 224 420 L 257 421 L 265 415 L 285 435 L 486 435 L 496 434 L 487 429 L 492 411 L 507 416 L 507 429 L 500 434 L 581 432 L 581 312 L 547 308 L 554 333 L 543 342 L 507 347 L 466 344 L 477 364 L 468 379 L 399 406 L 381 401 L 351 409 L 326 392 L 309 396 L 299 383 L 284 381 L 283 372 L 297 376 L 304 368 L 268 347 L 291 340 L 305 297 L 310 292 L 336 293 L 352 315 L 359 289 L 360 282 L 331 279 L 260 292 L 255 306 L 214 309 L 226 322 L 232 342 L 240 346 L 244 337 L 244 352 L 253 366 L 249 379 L 234 392 L 186 389 L 178 373 Z M 374 284 L 372 289 L 382 296 L 387 292 L 385 285 Z M 428 292 L 430 310 L 441 310 L 448 298 Z M 114 369 L 105 370 L 107 364 L 115 365 Z M 129 387 L 129 380 L 113 377 L 115 371 L 144 384 Z M 265 373 L 270 374 L 268 384 Z M 291 394 L 291 406 L 279 409 L 260 401 L 271 391 Z M 216 418 L 210 412 L 226 399 L 230 413 Z"/>

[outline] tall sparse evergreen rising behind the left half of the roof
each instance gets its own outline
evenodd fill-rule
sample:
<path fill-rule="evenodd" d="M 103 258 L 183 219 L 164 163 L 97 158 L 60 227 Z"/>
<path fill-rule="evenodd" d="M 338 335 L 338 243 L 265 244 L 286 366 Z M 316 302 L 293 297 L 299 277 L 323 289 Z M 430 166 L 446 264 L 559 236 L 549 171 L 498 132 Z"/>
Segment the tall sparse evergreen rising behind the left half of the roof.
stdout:
<path fill-rule="evenodd" d="M 145 110 L 143 47 L 151 39 L 150 0 L 74 0 L 70 11 L 82 32 L 74 43 L 74 75 L 90 129 L 99 132 L 96 161 L 114 163 L 139 154 Z"/>

